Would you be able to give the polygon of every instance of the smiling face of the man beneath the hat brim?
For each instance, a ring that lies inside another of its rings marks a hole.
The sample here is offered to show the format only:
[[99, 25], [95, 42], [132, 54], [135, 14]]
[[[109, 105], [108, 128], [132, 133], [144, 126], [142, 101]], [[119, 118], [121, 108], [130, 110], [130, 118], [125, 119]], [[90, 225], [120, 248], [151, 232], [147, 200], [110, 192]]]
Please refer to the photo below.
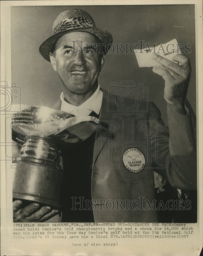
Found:
[[96, 90], [104, 56], [98, 51], [93, 53], [90, 45], [100, 43], [96, 36], [86, 32], [71, 32], [57, 40], [50, 60], [66, 93], [85, 95]]

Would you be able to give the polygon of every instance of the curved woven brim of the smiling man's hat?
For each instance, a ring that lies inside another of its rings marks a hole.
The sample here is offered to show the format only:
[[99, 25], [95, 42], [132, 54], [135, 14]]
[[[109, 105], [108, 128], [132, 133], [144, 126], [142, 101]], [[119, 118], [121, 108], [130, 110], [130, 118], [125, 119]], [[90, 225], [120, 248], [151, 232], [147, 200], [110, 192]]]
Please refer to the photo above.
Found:
[[[52, 51], [52, 48], [53, 48], [56, 40], [58, 40], [59, 37], [65, 35], [67, 33], [77, 32], [77, 31], [88, 32], [88, 33], [95, 35], [96, 37], [99, 38], [99, 40], [101, 41], [101, 44], [107, 45], [107, 44], [112, 44], [112, 42], [113, 42], [112, 35], [108, 31], [106, 31], [102, 28], [97, 28], [97, 27], [74, 28], [74, 29], [61, 31], [61, 32], [54, 34], [54, 35], [50, 36], [49, 38], [47, 38], [39, 47], [39, 52], [40, 52], [41, 56], [50, 62], [49, 53]], [[111, 45], [109, 45], [109, 47], [110, 46]], [[105, 52], [105, 54], [106, 54], [106, 52]]]

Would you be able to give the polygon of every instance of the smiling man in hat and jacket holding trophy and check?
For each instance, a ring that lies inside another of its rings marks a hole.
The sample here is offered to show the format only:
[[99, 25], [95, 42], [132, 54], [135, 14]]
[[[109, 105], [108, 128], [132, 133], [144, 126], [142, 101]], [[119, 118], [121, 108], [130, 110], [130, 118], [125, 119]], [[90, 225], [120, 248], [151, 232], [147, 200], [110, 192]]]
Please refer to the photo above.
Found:
[[[193, 113], [188, 110], [190, 107], [185, 106], [191, 72], [189, 60], [176, 55], [177, 65], [154, 54], [154, 60], [163, 65], [154, 67], [153, 72], [165, 80], [164, 98], [169, 120], [169, 132], [167, 128], [159, 132], [154, 124], [163, 122], [153, 103], [149, 104], [148, 111], [142, 111], [144, 106], [139, 102], [138, 114], [123, 115], [122, 111], [116, 112], [117, 98], [98, 85], [107, 45], [111, 43], [111, 34], [96, 28], [88, 13], [72, 9], [56, 18], [52, 36], [40, 46], [41, 55], [51, 62], [62, 82], [60, 101], [52, 107], [74, 115], [95, 115], [101, 122], [115, 125], [114, 128], [109, 126], [111, 146], [109, 133], [99, 137], [100, 130], [95, 129], [87, 141], [76, 145], [71, 152], [62, 148], [65, 178], [61, 221], [157, 222], [156, 211], [147, 207], [154, 199], [153, 169], [166, 176], [174, 187], [196, 187], [196, 174], [191, 171], [196, 170], [195, 124]], [[101, 44], [106, 46], [103, 54]], [[127, 104], [131, 106], [132, 101]], [[146, 132], [151, 134], [145, 145], [146, 133], [139, 128], [143, 122], [147, 123]], [[158, 141], [154, 135], [158, 136]], [[149, 152], [158, 160], [147, 160]], [[104, 155], [110, 156], [110, 161], [100, 161]], [[66, 169], [70, 161], [71, 168]], [[80, 213], [71, 210], [81, 206], [83, 195], [86, 202], [94, 201], [94, 207], [87, 207]], [[37, 203], [23, 208], [20, 200], [14, 201], [13, 208], [14, 221], [46, 221], [59, 212]]]

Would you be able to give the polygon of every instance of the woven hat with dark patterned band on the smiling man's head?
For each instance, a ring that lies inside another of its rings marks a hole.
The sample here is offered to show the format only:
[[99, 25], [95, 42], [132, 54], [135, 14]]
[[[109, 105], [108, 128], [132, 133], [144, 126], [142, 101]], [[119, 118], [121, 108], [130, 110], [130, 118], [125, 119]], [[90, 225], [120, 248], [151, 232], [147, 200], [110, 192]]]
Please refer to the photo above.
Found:
[[104, 45], [109, 45], [113, 42], [112, 35], [102, 28], [97, 28], [89, 13], [80, 9], [70, 9], [60, 13], [55, 19], [52, 27], [52, 36], [48, 37], [39, 47], [41, 56], [50, 61], [49, 53], [52, 51], [54, 43], [61, 36], [77, 31], [93, 34]]

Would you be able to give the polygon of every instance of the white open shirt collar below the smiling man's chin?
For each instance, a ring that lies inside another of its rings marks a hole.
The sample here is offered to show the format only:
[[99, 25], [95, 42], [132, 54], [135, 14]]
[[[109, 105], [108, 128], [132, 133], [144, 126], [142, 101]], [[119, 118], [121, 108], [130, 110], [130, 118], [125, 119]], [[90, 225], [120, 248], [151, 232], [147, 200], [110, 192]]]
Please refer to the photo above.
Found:
[[92, 96], [83, 102], [80, 106], [74, 106], [64, 100], [64, 94], [61, 93], [61, 110], [73, 115], [89, 115], [94, 111], [99, 115], [101, 104], [102, 104], [103, 92], [100, 90], [98, 84], [97, 90], [92, 94]]

